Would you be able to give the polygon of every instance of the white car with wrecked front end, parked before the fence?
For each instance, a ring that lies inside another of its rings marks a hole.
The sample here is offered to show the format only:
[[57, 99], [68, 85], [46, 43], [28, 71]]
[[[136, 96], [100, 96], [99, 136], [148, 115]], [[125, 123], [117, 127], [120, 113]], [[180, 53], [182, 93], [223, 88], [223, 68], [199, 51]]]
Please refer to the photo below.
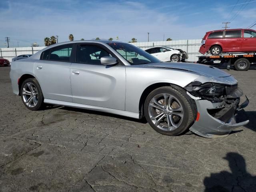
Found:
[[184, 62], [188, 58], [188, 54], [185, 51], [168, 46], [156, 46], [145, 51], [162, 62]]

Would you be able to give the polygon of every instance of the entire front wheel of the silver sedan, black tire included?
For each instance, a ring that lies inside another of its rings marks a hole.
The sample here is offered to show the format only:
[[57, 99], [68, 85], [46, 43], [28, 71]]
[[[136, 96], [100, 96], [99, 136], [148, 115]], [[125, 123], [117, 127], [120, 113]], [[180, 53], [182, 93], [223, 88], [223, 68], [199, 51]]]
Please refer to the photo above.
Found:
[[170, 86], [153, 90], [146, 98], [144, 112], [150, 126], [166, 135], [182, 134], [194, 121], [190, 102]]

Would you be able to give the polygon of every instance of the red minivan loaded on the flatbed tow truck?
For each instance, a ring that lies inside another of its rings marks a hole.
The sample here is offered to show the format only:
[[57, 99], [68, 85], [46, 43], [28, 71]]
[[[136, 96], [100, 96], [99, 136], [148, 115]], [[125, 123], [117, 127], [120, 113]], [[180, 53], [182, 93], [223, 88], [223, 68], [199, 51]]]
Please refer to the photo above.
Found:
[[199, 52], [212, 55], [225, 52], [256, 52], [256, 31], [252, 29], [227, 29], [206, 32]]

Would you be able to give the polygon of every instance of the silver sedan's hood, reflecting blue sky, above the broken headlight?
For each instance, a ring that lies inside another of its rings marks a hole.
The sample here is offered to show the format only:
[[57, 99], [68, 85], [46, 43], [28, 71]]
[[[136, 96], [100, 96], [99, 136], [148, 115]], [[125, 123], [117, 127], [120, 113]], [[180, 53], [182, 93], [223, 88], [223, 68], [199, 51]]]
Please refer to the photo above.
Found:
[[195, 63], [153, 63], [146, 64], [146, 67], [155, 67], [155, 68], [167, 68], [167, 69], [176, 69], [176, 70], [185, 70], [194, 72], [208, 78], [223, 78], [231, 76], [230, 74], [220, 70], [218, 68], [207, 66], [203, 64], [195, 64]]

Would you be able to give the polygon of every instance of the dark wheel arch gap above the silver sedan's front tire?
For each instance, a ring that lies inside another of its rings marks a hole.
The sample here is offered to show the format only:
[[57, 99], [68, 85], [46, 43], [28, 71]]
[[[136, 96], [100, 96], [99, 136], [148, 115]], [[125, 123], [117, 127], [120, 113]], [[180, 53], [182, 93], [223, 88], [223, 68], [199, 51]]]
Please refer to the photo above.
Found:
[[181, 86], [178, 86], [176, 84], [166, 83], [166, 82], [158, 82], [155, 84], [151, 84], [142, 92], [142, 95], [140, 96], [140, 102], [139, 102], [139, 118], [144, 118], [144, 103], [145, 103], [145, 100], [146, 100], [148, 94], [150, 94], [150, 92], [152, 92], [156, 88], [160, 88], [160, 87], [164, 87], [164, 86], [170, 86], [172, 88], [179, 90], [180, 92], [182, 92], [184, 94], [186, 99], [188, 99], [188, 101], [190, 102], [192, 110], [194, 110], [194, 120], [196, 120], [196, 114], [197, 114], [196, 102], [192, 98], [190, 98], [190, 96], [188, 96], [188, 94], [186, 94], [186, 90], [184, 88], [182, 88]]

